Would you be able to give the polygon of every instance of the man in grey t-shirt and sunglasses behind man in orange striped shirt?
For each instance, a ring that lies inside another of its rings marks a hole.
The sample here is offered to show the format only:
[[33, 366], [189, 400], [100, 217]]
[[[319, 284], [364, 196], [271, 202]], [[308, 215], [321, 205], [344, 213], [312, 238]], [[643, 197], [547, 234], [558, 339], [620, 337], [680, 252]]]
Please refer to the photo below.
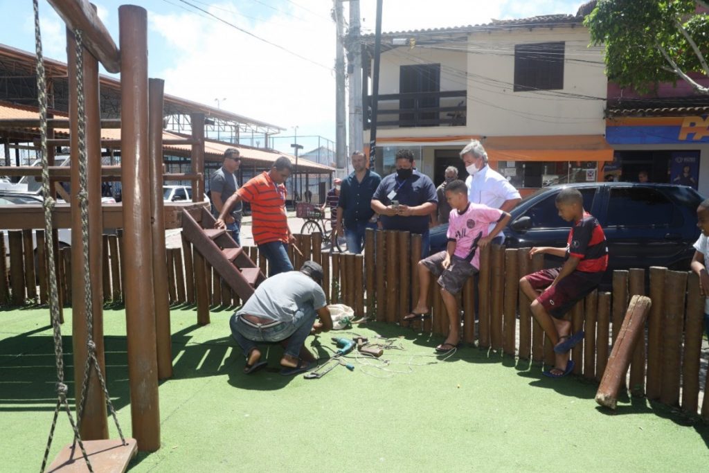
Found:
[[[241, 156], [239, 150], [236, 148], [228, 148], [228, 150], [224, 152], [224, 162], [222, 167], [217, 169], [209, 180], [209, 191], [212, 198], [212, 203], [216, 208], [216, 216], [218, 216], [221, 212], [224, 202], [232, 196], [237, 189], [239, 189], [239, 183], [236, 180], [235, 174], [239, 170], [240, 165]], [[243, 204], [239, 201], [224, 222], [226, 223], [226, 229], [231, 232], [234, 241], [239, 246], [241, 246], [240, 232], [242, 208]]]

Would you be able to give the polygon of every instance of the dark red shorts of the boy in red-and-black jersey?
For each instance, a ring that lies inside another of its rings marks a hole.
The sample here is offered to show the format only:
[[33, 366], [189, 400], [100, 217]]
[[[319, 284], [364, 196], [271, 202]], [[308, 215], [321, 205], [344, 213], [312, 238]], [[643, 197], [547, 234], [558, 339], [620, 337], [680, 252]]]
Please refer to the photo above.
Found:
[[603, 277], [603, 271], [574, 271], [559, 281], [556, 286], [549, 287], [549, 284], [552, 284], [554, 279], [557, 279], [561, 270], [562, 268], [560, 267], [542, 269], [525, 276], [532, 289], [543, 291], [537, 297], [537, 301], [555, 318], [562, 318], [566, 312], [574, 307], [576, 302], [584, 299], [593, 289], [596, 289]]

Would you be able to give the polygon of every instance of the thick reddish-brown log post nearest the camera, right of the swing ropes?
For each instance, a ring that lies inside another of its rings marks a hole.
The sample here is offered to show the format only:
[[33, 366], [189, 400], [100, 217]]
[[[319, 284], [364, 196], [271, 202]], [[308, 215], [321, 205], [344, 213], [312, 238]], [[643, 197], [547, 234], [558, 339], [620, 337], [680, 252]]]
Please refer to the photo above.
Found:
[[[146, 284], [154, 280], [150, 228], [150, 162], [147, 162], [147, 13], [138, 6], [123, 5], [118, 8], [118, 19], [123, 123], [123, 208], [130, 209], [130, 212], [123, 212], [125, 247], [130, 248], [130, 252], [123, 253], [126, 273], [125, 318], [128, 325], [130, 413], [133, 421], [132, 434], [135, 440], [138, 440], [138, 449], [154, 451], [160, 448], [160, 401], [157, 394], [155, 296], [152, 284]], [[193, 120], [193, 133], [195, 128]], [[194, 163], [193, 166], [195, 172], [201, 172]], [[98, 183], [101, 184], [100, 178]], [[194, 192], [194, 196], [202, 199], [199, 191]], [[203, 275], [202, 273], [202, 281]]]

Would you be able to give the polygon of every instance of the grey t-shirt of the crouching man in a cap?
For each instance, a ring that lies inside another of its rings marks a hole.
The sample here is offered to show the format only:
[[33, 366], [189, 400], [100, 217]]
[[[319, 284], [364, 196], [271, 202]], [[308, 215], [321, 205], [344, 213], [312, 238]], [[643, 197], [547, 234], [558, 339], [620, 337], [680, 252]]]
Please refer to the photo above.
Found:
[[323, 288], [300, 271], [281, 272], [262, 282], [236, 313], [291, 322], [298, 310], [328, 305]]

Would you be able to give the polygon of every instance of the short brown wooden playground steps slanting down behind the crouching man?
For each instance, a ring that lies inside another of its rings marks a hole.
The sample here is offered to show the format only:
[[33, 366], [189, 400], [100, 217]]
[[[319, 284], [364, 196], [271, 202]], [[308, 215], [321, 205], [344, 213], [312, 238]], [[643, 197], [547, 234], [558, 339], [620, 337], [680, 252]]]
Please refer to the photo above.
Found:
[[182, 233], [194, 249], [216, 270], [224, 282], [247, 301], [266, 277], [227, 230], [214, 228], [216, 220], [202, 209], [201, 225], [187, 211], [182, 211]]

